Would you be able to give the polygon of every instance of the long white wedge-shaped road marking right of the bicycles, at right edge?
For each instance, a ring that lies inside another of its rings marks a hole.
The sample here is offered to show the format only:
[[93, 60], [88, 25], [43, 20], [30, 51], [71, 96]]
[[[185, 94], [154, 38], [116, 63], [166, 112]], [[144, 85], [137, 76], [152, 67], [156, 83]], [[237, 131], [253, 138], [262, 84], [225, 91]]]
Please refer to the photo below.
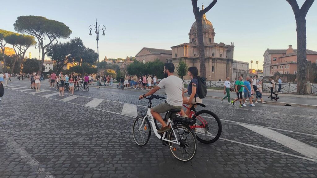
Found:
[[261, 134], [264, 137], [267, 137], [271, 140], [274, 140], [277, 143], [280, 143], [284, 146], [287, 146], [290, 149], [293, 149], [294, 151], [297, 151], [301, 153], [302, 155], [305, 155], [307, 157], [317, 159], [317, 148], [310, 146], [306, 143], [302, 143], [298, 140], [295, 140], [294, 138], [288, 137], [286, 135], [283, 135], [281, 133], [278, 133], [274, 130], [248, 125], [248, 124], [239, 124], [249, 130], [252, 130], [258, 134]]

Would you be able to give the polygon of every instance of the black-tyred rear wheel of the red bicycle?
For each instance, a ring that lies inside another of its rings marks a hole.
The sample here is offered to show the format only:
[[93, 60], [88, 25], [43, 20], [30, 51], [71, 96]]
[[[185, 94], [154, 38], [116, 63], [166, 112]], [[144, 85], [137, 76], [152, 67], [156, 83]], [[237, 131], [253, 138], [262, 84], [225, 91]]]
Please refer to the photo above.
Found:
[[[197, 140], [201, 143], [214, 143], [216, 142], [222, 132], [222, 125], [218, 116], [207, 110], [198, 111], [194, 114], [193, 119], [196, 119], [197, 126], [194, 130]], [[202, 126], [203, 123], [205, 127]]]

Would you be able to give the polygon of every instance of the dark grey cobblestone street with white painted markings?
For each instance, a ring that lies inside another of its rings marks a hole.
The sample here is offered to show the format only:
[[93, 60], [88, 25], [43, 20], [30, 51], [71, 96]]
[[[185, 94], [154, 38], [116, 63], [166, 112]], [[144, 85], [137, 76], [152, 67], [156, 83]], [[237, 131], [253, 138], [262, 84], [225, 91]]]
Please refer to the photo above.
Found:
[[13, 79], [0, 103], [0, 178], [317, 176], [316, 109], [239, 108], [206, 98], [203, 109], [221, 119], [222, 135], [198, 142], [196, 156], [181, 162], [154, 134], [144, 147], [134, 142], [135, 117], [122, 108], [144, 110], [138, 97], [145, 91], [91, 86], [68, 98], [46, 80], [41, 92], [29, 86]]

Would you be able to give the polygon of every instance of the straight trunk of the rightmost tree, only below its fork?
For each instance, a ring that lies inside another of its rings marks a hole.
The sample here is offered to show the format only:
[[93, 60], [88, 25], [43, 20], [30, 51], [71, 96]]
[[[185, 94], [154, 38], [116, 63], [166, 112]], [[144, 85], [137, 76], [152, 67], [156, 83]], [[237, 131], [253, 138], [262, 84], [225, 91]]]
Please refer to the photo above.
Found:
[[306, 74], [306, 20], [305, 17], [296, 18], [297, 32], [297, 94], [307, 94]]

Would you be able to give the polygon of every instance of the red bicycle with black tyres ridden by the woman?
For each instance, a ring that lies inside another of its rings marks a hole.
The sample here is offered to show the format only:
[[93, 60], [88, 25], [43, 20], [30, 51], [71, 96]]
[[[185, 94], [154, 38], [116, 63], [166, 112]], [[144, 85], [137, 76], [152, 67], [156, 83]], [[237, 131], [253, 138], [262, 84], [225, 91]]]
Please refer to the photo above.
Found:
[[[194, 104], [191, 108], [185, 105], [183, 106], [186, 109], [191, 110], [188, 118], [196, 119], [196, 124], [191, 125], [190, 128], [195, 131], [197, 140], [205, 144], [216, 142], [219, 139], [222, 132], [222, 125], [218, 116], [215, 113], [208, 110], [201, 110], [197, 112], [196, 106], [206, 107], [206, 105], [201, 103]], [[166, 121], [166, 118], [169, 117], [170, 116], [168, 116], [166, 113], [165, 118], [163, 120]], [[178, 116], [175, 117], [182, 116], [180, 116], [180, 113], [178, 113]], [[158, 125], [159, 123], [156, 122], [156, 119], [154, 119], [154, 124], [157, 129], [161, 127], [160, 125]]]

